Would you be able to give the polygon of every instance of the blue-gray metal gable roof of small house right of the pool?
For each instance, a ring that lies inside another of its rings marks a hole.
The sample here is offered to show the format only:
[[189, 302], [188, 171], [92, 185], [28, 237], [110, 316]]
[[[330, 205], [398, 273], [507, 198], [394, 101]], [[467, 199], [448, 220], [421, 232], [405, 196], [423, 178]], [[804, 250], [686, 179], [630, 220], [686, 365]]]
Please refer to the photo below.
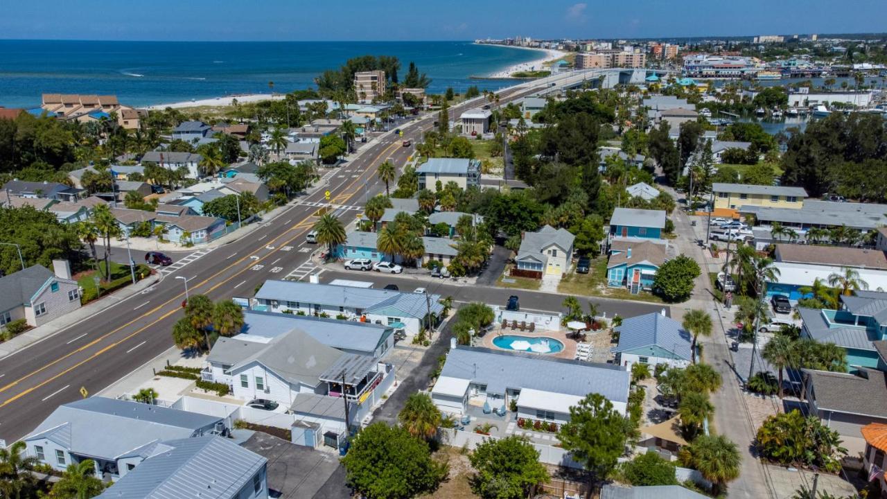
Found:
[[680, 322], [663, 316], [661, 313], [647, 313], [624, 319], [619, 331], [619, 345], [613, 352], [627, 352], [636, 348], [658, 346], [682, 359], [690, 360], [692, 337]]

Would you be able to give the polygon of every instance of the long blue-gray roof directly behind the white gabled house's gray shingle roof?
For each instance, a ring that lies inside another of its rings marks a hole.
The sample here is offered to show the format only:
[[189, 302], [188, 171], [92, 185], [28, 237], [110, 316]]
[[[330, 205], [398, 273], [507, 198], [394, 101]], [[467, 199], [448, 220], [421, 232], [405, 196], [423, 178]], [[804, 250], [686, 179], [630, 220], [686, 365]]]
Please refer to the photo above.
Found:
[[293, 329], [301, 329], [326, 346], [369, 354], [373, 354], [394, 331], [388, 326], [368, 322], [247, 310], [243, 313], [243, 328], [240, 332], [261, 337], [277, 337]]

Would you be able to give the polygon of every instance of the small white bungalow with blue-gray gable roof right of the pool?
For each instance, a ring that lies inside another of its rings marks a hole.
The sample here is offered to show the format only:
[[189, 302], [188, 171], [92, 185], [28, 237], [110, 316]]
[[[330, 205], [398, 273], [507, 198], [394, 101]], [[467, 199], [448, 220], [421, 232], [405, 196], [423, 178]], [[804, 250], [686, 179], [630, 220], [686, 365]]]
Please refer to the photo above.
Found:
[[680, 322], [662, 313], [624, 319], [614, 330], [619, 335], [619, 344], [611, 352], [616, 353], [616, 364], [627, 370], [636, 363], [686, 368], [693, 360], [690, 333]]

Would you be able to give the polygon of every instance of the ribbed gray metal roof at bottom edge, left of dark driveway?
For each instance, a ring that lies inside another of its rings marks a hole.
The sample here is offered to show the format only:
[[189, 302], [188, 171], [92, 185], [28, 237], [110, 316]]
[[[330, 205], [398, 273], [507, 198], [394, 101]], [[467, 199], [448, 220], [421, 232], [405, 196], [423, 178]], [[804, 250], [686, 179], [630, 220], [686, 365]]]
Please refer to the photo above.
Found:
[[215, 435], [168, 440], [108, 488], [99, 499], [230, 499], [253, 487], [268, 460]]

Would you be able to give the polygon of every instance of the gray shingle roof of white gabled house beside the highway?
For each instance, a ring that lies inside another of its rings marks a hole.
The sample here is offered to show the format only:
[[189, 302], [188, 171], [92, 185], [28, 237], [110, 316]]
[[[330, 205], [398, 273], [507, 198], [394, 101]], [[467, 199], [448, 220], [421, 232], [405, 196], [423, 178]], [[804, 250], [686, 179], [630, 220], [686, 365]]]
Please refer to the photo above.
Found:
[[266, 344], [238, 337], [220, 337], [207, 360], [230, 364], [232, 372], [256, 361], [291, 384], [317, 386], [321, 373], [342, 355], [342, 352], [320, 343], [302, 329], [292, 329], [271, 338]]

